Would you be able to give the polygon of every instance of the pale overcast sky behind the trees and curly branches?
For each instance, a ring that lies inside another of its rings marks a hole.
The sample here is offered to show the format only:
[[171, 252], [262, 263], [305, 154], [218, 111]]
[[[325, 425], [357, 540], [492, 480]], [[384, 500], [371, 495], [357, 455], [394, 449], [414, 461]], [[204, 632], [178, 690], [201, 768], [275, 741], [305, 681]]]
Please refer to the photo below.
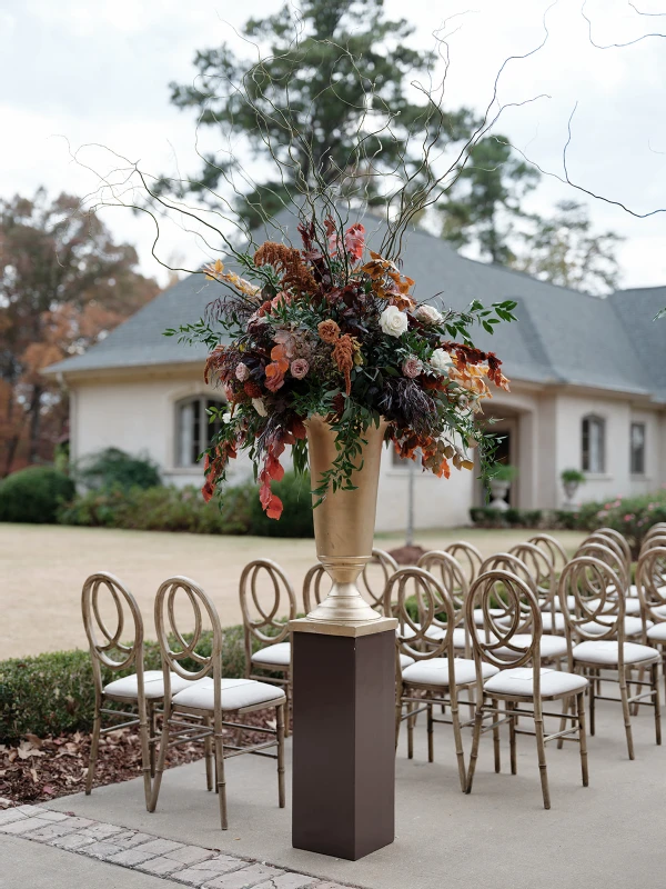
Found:
[[[276, 10], [279, 0], [3, 0], [0, 7], [0, 194], [30, 194], [40, 184], [57, 193], [83, 194], [98, 181], [70, 157], [100, 143], [141, 159], [154, 172], [195, 172], [194, 117], [169, 102], [168, 83], [194, 76], [196, 49], [229, 41], [249, 16]], [[447, 17], [451, 68], [447, 106], [485, 109], [497, 70], [508, 56], [534, 49], [544, 37], [542, 0], [386, 0], [392, 18], [416, 27], [415, 46], [431, 48], [432, 32]], [[599, 44], [624, 43], [650, 31], [666, 33], [666, 0], [589, 0], [586, 14]], [[582, 0], [559, 0], [547, 13], [545, 47], [509, 62], [500, 80], [503, 103], [542, 98], [507, 109], [497, 131], [544, 170], [562, 174], [567, 120], [577, 102], [568, 150], [572, 179], [636, 213], [666, 207], [666, 40], [649, 38], [625, 48], [589, 43]], [[456, 30], [457, 29], [457, 30]], [[67, 141], [65, 141], [67, 140]], [[84, 151], [100, 169], [99, 154]], [[93, 158], [97, 158], [94, 161]], [[635, 219], [586, 199], [546, 178], [531, 206], [546, 212], [565, 198], [585, 199], [599, 229], [626, 238], [619, 250], [622, 284], [666, 283], [666, 213]], [[103, 218], [118, 238], [139, 247], [142, 268], [164, 280], [150, 256], [152, 229], [129, 211]], [[196, 240], [168, 232], [164, 259], [202, 259]], [[417, 270], [411, 270], [415, 273]]]

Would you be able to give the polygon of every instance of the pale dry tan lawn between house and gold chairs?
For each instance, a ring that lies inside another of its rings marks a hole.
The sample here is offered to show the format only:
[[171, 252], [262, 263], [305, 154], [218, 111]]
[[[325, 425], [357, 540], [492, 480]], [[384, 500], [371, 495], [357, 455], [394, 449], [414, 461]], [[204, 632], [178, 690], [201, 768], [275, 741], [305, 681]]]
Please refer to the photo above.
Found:
[[[465, 539], [490, 556], [532, 533], [448, 528], [418, 531], [416, 542], [437, 549]], [[556, 536], [569, 552], [584, 537], [576, 531]], [[404, 543], [404, 537], [377, 535], [375, 542], [382, 549], [391, 549]], [[240, 623], [239, 577], [243, 566], [259, 557], [282, 566], [302, 608], [301, 586], [315, 562], [314, 540], [0, 523], [0, 659], [87, 647], [81, 586], [99, 570], [111, 571], [132, 590], [148, 638], [154, 637], [155, 591], [173, 575], [185, 575], [201, 583], [215, 602], [224, 626]]]

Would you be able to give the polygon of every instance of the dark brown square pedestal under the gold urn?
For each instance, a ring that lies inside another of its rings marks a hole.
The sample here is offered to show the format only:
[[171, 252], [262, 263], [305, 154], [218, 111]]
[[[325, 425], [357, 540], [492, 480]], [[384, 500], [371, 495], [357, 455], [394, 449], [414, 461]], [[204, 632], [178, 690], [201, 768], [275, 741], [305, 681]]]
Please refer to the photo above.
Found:
[[292, 669], [293, 846], [355, 861], [395, 836], [395, 631], [294, 632]]

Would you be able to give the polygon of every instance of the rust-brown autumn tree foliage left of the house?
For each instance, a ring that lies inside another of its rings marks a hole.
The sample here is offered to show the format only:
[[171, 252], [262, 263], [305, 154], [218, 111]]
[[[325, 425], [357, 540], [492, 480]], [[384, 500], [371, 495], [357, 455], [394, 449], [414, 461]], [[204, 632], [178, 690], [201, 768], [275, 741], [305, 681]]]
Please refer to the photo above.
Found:
[[62, 387], [41, 371], [82, 352], [158, 292], [79, 199], [0, 202], [0, 475], [48, 460], [67, 433]]

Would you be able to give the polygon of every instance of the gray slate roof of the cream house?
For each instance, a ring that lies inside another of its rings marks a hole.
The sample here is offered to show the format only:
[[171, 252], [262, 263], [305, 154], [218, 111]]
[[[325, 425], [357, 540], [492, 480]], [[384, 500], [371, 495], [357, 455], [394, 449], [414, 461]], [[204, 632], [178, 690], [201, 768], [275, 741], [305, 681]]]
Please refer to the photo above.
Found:
[[[294, 217], [285, 213], [279, 220], [292, 242], [299, 243]], [[373, 217], [364, 221], [369, 230], [374, 228], [370, 240], [376, 242], [383, 223]], [[420, 301], [454, 309], [464, 309], [473, 299], [486, 304], [517, 301], [518, 322], [498, 324], [493, 337], [483, 330], [475, 333], [481, 348], [497, 352], [509, 378], [650, 393], [666, 401], [666, 319], [652, 320], [666, 306], [666, 287], [617, 291], [598, 299], [465, 259], [445, 241], [422, 231], [408, 234], [403, 263], [405, 273], [416, 279], [414, 296]], [[52, 364], [48, 372], [202, 362], [201, 347], [178, 343], [163, 331], [199, 319], [219, 293], [214, 281], [192, 274], [84, 354]], [[440, 296], [433, 299], [434, 294]]]

